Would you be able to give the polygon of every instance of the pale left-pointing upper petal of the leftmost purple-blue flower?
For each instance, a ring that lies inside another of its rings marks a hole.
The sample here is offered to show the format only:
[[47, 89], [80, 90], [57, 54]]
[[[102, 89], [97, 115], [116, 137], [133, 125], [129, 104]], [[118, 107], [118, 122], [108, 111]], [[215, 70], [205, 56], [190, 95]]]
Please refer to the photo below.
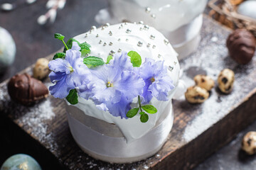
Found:
[[53, 72], [65, 72], [65, 74], [70, 74], [70, 63], [67, 60], [56, 59], [49, 62], [49, 69]]

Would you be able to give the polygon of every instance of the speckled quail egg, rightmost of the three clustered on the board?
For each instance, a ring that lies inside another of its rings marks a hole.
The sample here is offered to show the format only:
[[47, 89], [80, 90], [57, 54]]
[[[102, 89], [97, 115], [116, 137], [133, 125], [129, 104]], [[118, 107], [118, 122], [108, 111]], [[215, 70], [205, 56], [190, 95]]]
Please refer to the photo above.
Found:
[[235, 74], [231, 69], [223, 69], [218, 75], [218, 88], [224, 94], [229, 94], [233, 90]]

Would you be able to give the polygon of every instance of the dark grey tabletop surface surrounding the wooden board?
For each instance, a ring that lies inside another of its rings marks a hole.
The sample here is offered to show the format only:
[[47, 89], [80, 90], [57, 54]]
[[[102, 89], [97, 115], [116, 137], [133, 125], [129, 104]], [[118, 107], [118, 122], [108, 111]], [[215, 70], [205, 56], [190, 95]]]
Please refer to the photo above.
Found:
[[[19, 0], [22, 1], [22, 0]], [[6, 1], [0, 0], [0, 4]], [[0, 82], [12, 77], [40, 57], [46, 57], [63, 47], [59, 40], [53, 38], [54, 33], [65, 35], [65, 40], [85, 33], [91, 26], [99, 26], [95, 15], [107, 6], [105, 0], [68, 0], [65, 8], [58, 11], [55, 23], [39, 26], [37, 18], [46, 13], [46, 0], [38, 0], [30, 6], [23, 5], [14, 11], [0, 11], [0, 26], [9, 30], [16, 42], [16, 60], [4, 74]], [[12, 154], [26, 153], [35, 157], [43, 169], [63, 169], [49, 152], [39, 152], [41, 145], [27, 138], [11, 120], [0, 117], [0, 166]], [[255, 130], [256, 123], [243, 131], [229, 145], [220, 149], [196, 170], [204, 169], [256, 169], [255, 157], [247, 157], [240, 152], [242, 135], [248, 130]], [[26, 140], [24, 140], [26, 139]], [[203, 147], [202, 147], [203, 149]]]

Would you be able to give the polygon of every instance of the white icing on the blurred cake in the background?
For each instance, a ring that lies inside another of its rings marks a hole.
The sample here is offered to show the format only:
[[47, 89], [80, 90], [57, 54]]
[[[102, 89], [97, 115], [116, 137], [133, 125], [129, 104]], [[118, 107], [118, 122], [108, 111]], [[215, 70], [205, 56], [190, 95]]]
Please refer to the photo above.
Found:
[[[173, 31], [190, 23], [206, 7], [207, 0], [110, 0], [110, 13], [119, 21], [144, 21], [157, 30]], [[146, 8], [150, 8], [146, 12]]]

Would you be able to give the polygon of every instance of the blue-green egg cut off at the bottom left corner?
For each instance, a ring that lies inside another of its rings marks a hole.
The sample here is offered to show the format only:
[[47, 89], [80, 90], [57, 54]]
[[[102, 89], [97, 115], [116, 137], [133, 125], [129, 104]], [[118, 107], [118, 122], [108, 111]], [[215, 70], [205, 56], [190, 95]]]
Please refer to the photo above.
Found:
[[27, 154], [14, 154], [6, 159], [0, 170], [41, 170], [41, 166]]

